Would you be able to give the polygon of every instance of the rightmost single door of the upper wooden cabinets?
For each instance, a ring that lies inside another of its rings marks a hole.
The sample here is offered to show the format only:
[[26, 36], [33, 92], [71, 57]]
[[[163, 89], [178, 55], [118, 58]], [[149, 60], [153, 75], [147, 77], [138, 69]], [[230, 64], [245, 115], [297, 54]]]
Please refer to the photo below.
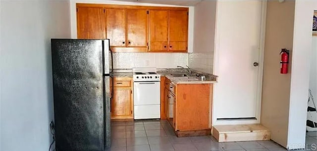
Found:
[[187, 51], [188, 13], [169, 11], [169, 51]]

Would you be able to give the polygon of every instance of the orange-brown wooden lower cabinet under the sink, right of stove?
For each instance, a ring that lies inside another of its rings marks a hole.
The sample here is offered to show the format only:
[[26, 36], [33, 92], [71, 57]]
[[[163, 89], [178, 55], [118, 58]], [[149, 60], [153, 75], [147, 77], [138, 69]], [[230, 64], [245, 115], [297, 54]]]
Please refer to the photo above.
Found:
[[178, 137], [211, 135], [212, 84], [165, 79], [165, 114]]

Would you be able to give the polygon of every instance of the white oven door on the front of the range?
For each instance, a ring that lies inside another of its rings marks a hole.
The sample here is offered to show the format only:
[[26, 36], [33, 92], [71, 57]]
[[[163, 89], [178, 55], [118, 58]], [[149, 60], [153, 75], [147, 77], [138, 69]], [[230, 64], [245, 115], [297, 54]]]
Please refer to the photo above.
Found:
[[134, 106], [160, 104], [159, 81], [134, 82]]

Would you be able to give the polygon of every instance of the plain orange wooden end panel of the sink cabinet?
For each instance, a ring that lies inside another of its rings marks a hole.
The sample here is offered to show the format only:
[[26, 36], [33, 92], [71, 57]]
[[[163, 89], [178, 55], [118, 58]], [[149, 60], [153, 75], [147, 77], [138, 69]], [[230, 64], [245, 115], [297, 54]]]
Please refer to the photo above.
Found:
[[210, 90], [210, 84], [177, 84], [176, 130], [210, 129]]

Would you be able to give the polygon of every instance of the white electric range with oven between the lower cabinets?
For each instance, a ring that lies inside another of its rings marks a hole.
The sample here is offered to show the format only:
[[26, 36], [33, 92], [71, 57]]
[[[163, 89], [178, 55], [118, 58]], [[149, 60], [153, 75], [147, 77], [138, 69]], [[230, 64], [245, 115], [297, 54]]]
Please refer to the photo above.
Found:
[[160, 118], [160, 75], [157, 68], [132, 68], [134, 119]]

